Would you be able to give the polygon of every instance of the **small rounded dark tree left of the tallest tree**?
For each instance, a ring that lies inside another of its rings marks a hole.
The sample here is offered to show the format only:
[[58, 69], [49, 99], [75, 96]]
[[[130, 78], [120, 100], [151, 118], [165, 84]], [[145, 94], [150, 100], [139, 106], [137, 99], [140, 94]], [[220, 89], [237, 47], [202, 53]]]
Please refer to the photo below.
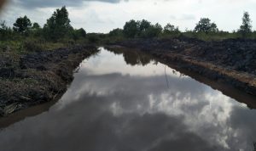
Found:
[[24, 34], [24, 33], [28, 33], [31, 26], [32, 26], [31, 21], [25, 15], [24, 17], [20, 17], [16, 20], [13, 29], [14, 31]]

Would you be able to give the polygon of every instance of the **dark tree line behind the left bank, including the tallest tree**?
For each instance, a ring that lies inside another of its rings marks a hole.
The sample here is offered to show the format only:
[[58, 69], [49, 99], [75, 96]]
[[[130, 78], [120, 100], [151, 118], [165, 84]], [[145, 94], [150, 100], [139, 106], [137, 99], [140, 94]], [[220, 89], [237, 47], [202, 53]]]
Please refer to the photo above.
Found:
[[5, 21], [0, 22], [0, 40], [9, 40], [17, 36], [42, 37], [48, 41], [58, 41], [62, 38], [78, 40], [86, 36], [83, 28], [74, 29], [70, 25], [67, 8], [57, 8], [43, 27], [38, 23], [32, 23], [25, 15], [19, 17], [13, 24], [13, 28], [6, 25]]

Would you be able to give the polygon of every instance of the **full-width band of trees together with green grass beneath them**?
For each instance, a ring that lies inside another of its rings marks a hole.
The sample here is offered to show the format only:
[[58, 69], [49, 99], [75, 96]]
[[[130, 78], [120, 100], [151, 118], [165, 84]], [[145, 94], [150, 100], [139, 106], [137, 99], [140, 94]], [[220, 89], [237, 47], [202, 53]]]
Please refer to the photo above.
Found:
[[113, 29], [108, 34], [89, 33], [83, 28], [73, 29], [70, 25], [66, 7], [58, 8], [47, 20], [44, 27], [38, 23], [31, 23], [26, 17], [20, 17], [10, 28], [5, 21], [0, 21], [0, 42], [12, 45], [11, 50], [18, 53], [43, 51], [60, 47], [69, 47], [77, 43], [114, 43], [124, 41], [126, 38], [172, 38], [189, 36], [204, 41], [218, 41], [228, 38], [247, 37], [256, 39], [256, 31], [252, 31], [252, 21], [245, 12], [242, 25], [233, 33], [218, 31], [217, 25], [211, 20], [202, 18], [195, 26], [194, 31], [179, 31], [177, 26], [167, 24], [164, 29], [160, 24], [151, 24], [148, 20], [130, 20], [123, 29]]

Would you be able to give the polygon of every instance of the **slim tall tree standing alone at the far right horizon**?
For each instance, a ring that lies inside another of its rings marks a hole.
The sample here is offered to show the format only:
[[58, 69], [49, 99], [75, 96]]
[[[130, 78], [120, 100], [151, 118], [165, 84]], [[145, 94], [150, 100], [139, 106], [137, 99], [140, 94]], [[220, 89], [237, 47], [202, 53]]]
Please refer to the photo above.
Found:
[[242, 36], [246, 36], [248, 33], [252, 32], [252, 20], [250, 19], [250, 15], [248, 12], [244, 12], [242, 17], [242, 24], [239, 30]]

